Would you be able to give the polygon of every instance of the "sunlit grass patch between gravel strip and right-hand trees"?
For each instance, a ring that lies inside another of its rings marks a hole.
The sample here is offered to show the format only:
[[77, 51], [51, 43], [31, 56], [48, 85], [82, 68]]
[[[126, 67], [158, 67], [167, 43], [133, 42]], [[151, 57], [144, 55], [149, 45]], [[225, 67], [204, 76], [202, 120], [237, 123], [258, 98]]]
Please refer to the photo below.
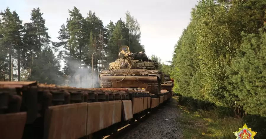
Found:
[[[173, 99], [178, 101], [177, 96]], [[221, 116], [217, 109], [193, 111], [181, 105], [178, 108], [180, 114], [176, 122], [183, 129], [182, 139], [236, 139], [233, 132], [244, 125], [240, 117]]]

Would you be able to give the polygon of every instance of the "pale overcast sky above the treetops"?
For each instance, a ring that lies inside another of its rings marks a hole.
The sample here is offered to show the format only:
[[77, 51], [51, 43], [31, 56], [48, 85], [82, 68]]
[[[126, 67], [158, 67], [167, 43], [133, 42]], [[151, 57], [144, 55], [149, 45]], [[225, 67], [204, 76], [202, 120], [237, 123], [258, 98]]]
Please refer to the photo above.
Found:
[[[111, 2], [112, 1], [112, 2]], [[76, 6], [83, 16], [89, 10], [107, 25], [116, 22], [128, 10], [140, 23], [141, 43], [148, 56], [155, 54], [164, 61], [172, 60], [174, 45], [190, 20], [197, 0], [0, 0], [0, 9], [9, 7], [23, 22], [30, 22], [30, 12], [40, 7], [52, 41], [58, 41], [60, 26], [69, 17], [68, 9]]]

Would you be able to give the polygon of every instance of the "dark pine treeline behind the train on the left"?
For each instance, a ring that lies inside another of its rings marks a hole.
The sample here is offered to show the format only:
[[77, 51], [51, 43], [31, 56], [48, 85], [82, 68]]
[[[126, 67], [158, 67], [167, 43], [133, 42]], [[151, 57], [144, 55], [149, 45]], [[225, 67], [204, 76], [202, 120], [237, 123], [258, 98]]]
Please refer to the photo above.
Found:
[[92, 71], [92, 54], [95, 55], [94, 70], [98, 73], [118, 57], [121, 45], [129, 45], [133, 52], [145, 51], [140, 44], [140, 25], [129, 12], [125, 14], [126, 21], [120, 18], [115, 23], [110, 21], [107, 26], [95, 12], [88, 11], [87, 17], [83, 17], [76, 7], [68, 12], [69, 18], [58, 31], [59, 42], [51, 42], [39, 8], [32, 10], [31, 22], [24, 24], [18, 13], [9, 7], [1, 11], [0, 80], [38, 80], [56, 84], [68, 81], [69, 85], [73, 80], [82, 80], [82, 76], [77, 79], [77, 74], [89, 75], [85, 72]]

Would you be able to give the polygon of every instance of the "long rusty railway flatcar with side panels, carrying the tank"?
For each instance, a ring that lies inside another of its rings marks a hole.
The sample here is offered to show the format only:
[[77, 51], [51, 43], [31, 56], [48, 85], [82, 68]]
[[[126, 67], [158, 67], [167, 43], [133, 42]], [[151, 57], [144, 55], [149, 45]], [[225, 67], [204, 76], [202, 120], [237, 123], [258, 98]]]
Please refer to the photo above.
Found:
[[0, 82], [1, 139], [101, 139], [166, 103], [124, 88], [72, 88]]

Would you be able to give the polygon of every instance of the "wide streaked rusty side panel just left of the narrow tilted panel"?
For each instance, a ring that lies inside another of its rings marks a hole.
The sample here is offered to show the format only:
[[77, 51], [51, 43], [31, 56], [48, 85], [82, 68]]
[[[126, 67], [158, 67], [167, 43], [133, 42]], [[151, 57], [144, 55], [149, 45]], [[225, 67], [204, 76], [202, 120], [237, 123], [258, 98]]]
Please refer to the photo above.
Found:
[[87, 135], [121, 121], [122, 101], [88, 103]]

